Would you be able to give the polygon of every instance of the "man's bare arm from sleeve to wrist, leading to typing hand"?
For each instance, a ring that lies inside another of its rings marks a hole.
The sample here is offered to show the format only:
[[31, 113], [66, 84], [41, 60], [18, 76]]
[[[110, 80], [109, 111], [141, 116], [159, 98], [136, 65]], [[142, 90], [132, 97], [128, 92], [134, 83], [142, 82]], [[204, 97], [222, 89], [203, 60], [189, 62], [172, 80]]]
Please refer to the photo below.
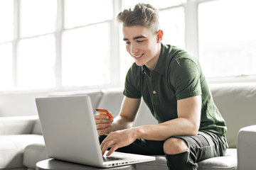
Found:
[[178, 118], [134, 128], [137, 136], [145, 140], [166, 140], [176, 135], [197, 135], [201, 120], [201, 95], [177, 101]]

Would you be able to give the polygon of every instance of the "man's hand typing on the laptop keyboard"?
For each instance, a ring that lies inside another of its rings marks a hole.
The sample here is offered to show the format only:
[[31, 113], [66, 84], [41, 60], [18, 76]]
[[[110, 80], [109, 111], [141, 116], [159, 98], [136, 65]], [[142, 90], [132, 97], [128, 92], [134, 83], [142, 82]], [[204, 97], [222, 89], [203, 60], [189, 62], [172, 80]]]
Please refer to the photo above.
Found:
[[102, 155], [105, 154], [108, 148], [111, 148], [107, 153], [107, 156], [110, 156], [116, 149], [119, 147], [125, 147], [127, 145], [132, 144], [137, 137], [134, 134], [134, 129], [126, 129], [126, 130], [117, 130], [115, 132], [110, 132], [109, 135], [103, 140], [100, 145], [100, 149], [102, 150]]

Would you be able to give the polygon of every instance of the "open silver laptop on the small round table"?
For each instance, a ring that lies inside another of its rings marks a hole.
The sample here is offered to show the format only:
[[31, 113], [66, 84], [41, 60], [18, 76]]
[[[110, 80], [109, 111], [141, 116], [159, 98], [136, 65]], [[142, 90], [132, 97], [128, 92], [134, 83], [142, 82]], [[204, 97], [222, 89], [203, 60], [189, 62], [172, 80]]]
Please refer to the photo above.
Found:
[[102, 157], [90, 96], [36, 98], [36, 106], [50, 158], [103, 168], [155, 160], [122, 152]]

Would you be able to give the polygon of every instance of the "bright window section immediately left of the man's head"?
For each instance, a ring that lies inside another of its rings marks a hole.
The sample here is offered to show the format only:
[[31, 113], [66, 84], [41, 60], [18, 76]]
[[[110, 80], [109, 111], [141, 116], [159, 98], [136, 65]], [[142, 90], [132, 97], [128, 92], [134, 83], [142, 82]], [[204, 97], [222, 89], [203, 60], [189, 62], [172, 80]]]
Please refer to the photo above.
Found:
[[64, 12], [62, 86], [111, 84], [112, 1], [66, 0]]

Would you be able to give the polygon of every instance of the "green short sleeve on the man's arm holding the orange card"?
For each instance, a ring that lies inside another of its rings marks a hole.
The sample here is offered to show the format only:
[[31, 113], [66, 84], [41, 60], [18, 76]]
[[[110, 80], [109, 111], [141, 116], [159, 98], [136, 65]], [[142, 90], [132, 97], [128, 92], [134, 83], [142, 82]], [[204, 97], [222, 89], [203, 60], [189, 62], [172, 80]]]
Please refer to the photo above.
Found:
[[139, 69], [134, 64], [127, 72], [124, 84], [124, 96], [129, 98], [141, 98], [142, 94], [139, 91]]

